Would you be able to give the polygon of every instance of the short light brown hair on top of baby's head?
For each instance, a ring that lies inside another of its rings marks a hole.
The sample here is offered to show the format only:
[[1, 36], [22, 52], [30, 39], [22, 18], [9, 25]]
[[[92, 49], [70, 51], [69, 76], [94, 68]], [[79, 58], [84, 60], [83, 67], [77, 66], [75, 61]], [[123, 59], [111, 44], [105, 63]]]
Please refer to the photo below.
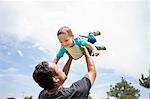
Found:
[[63, 26], [58, 30], [57, 36], [59, 36], [60, 34], [68, 34], [69, 36], [73, 35], [71, 29], [67, 26]]

